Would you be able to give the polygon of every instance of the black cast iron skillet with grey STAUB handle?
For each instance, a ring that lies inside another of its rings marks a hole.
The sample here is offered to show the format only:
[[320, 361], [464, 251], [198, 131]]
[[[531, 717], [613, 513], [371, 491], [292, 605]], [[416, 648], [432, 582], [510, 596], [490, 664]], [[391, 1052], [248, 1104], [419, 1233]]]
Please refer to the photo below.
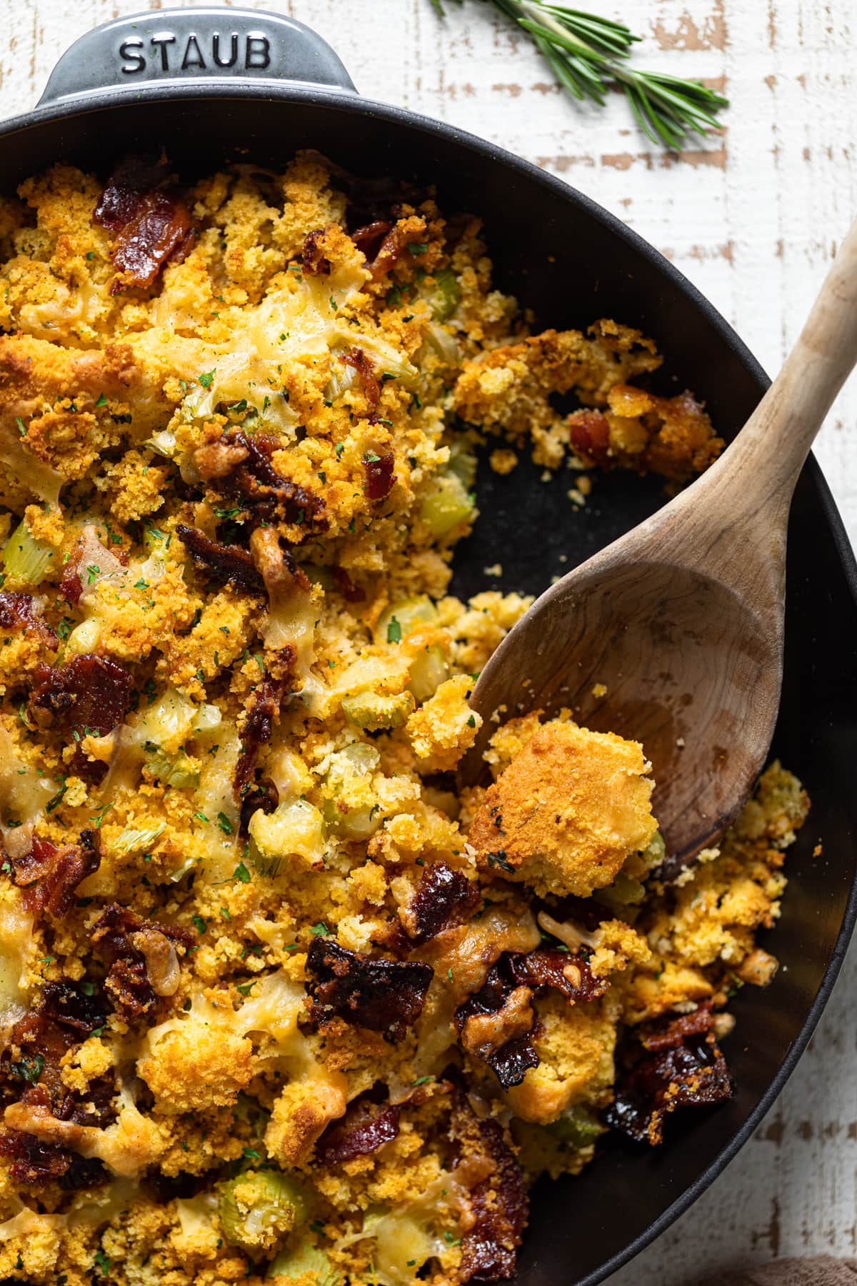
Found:
[[[231, 66], [217, 67], [215, 53]], [[200, 8], [91, 32], [60, 59], [36, 111], [0, 126], [0, 184], [10, 190], [59, 159], [104, 172], [127, 149], [161, 144], [185, 175], [230, 159], [283, 166], [311, 147], [357, 174], [436, 184], [447, 212], [484, 216], [500, 285], [542, 324], [613, 316], [641, 327], [667, 355], [663, 387], [693, 388], [726, 437], [766, 387], [711, 303], [612, 215], [490, 143], [357, 98], [333, 51], [287, 18]], [[522, 464], [501, 478], [481, 468], [482, 517], [459, 547], [457, 593], [495, 584], [538, 592], [663, 500], [657, 481], [615, 475], [599, 478], [590, 504], [574, 513], [565, 495], [570, 477], [546, 485], [538, 473]], [[502, 575], [487, 579], [483, 568], [497, 562]], [[582, 1177], [540, 1183], [518, 1282], [594, 1286], [628, 1260], [723, 1169], [804, 1049], [857, 908], [856, 652], [857, 567], [811, 460], [789, 534], [785, 688], [773, 750], [802, 777], [813, 808], [789, 853], [782, 919], [766, 943], [780, 972], [766, 992], [747, 988], [734, 1003], [738, 1028], [726, 1052], [738, 1096], [721, 1109], [685, 1112], [662, 1151], [608, 1139]]]

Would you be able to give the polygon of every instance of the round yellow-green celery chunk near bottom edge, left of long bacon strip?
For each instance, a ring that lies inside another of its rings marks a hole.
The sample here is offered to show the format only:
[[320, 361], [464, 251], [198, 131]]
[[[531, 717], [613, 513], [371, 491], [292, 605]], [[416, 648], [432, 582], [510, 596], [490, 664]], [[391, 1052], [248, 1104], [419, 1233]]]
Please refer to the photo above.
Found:
[[279, 1250], [303, 1223], [307, 1200], [294, 1179], [279, 1170], [247, 1170], [221, 1184], [217, 1214], [230, 1246], [256, 1259]]

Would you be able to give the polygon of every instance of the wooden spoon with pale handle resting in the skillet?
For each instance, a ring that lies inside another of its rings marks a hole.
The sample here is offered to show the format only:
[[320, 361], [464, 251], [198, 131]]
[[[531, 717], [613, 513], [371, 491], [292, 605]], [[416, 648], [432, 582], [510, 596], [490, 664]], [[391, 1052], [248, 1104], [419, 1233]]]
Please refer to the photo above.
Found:
[[493, 653], [470, 697], [484, 724], [463, 782], [481, 777], [499, 720], [565, 706], [588, 728], [642, 742], [664, 878], [717, 841], [771, 746], [791, 493], [856, 361], [857, 221], [782, 370], [727, 450], [551, 585]]

